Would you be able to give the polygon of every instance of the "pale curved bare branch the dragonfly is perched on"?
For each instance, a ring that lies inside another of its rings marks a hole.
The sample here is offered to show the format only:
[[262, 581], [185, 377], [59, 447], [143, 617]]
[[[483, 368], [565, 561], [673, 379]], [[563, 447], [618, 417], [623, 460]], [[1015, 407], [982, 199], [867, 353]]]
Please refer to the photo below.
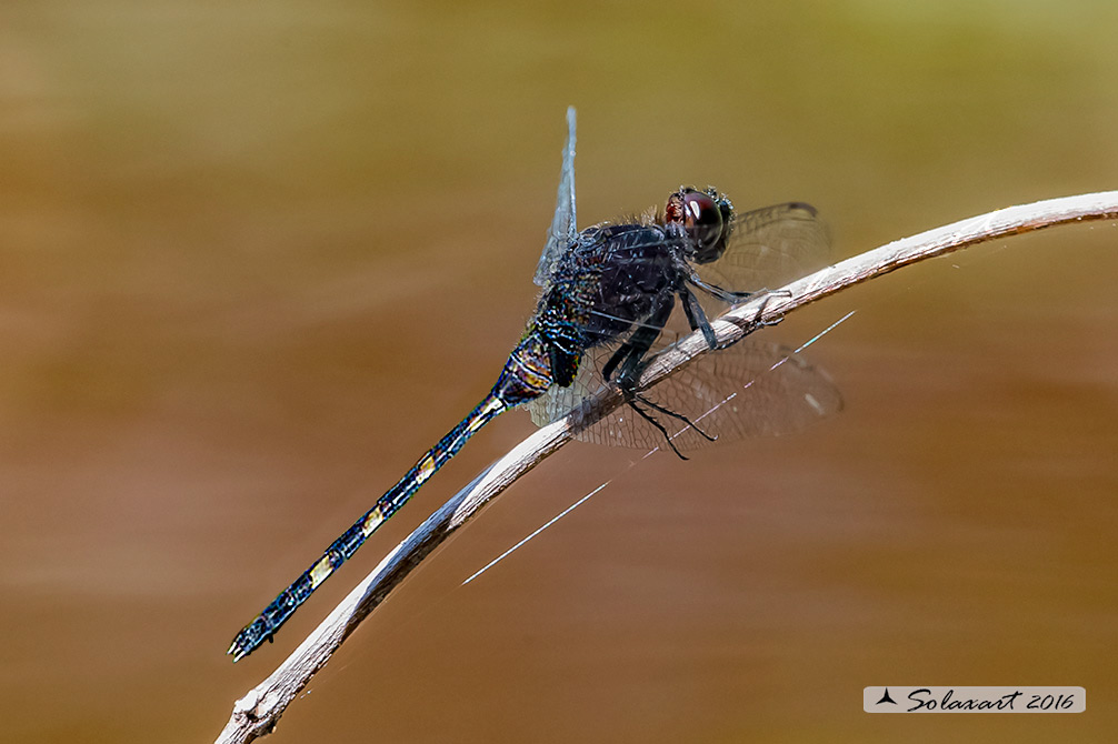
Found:
[[[840, 289], [926, 258], [1057, 225], [1108, 219], [1118, 219], [1118, 191], [1010, 207], [849, 258], [775, 293], [736, 306], [712, 321], [711, 326], [719, 343], [728, 345], [758, 327], [758, 323], [774, 322]], [[702, 334], [691, 334], [654, 360], [642, 375], [639, 387], [643, 389], [657, 383], [705, 353], [707, 349]], [[580, 412], [580, 426], [588, 426], [590, 421], [608, 414], [622, 402], [616, 391], [599, 395]], [[587, 410], [591, 411], [589, 418]], [[494, 496], [570, 440], [574, 426], [568, 418], [534, 432], [432, 514], [350, 592], [280, 668], [237, 700], [217, 742], [250, 742], [271, 733], [291, 700], [405, 576]]]

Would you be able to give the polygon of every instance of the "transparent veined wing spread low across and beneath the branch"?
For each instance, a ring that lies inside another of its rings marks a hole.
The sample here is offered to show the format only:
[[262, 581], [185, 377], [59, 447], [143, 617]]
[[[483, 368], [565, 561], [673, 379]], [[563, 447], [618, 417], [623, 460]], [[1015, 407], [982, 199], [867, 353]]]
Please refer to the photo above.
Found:
[[[610, 353], [610, 347], [593, 350], [574, 385], [533, 403], [532, 420], [542, 426], [581, 408], [587, 394], [604, 384], [598, 370]], [[691, 419], [718, 441], [790, 433], [842, 409], [842, 394], [823, 370], [790, 349], [752, 338], [703, 354], [643, 394]], [[680, 450], [711, 443], [678, 419], [654, 416]], [[576, 436], [618, 447], [665, 446], [664, 436], [627, 406]]]

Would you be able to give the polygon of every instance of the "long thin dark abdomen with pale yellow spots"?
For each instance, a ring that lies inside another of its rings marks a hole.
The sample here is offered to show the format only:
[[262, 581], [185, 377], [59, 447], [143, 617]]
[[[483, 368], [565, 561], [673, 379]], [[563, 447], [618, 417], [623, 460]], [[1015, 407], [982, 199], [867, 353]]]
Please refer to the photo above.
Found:
[[392, 516], [411, 497], [411, 494], [419, 490], [419, 486], [427, 478], [446, 465], [475, 431], [509, 408], [510, 404], [502, 400], [498, 389], [486, 395], [485, 400], [479, 403], [477, 408], [471, 411], [470, 416], [454, 427], [437, 445], [432, 447], [416, 462], [415, 467], [400, 478], [398, 484], [378, 498], [364, 516], [353, 523], [353, 526], [347, 530], [341, 537], [331, 543], [314, 565], [304, 571], [303, 575], [283, 590], [263, 612], [256, 616], [255, 620], [237, 633], [227, 651], [233, 656], [233, 660], [243, 659], [265, 640], [271, 640], [272, 635], [280, 629], [280, 626], [295, 612], [300, 604], [306, 601], [306, 598], [323, 581], [330, 578], [338, 566], [349, 560], [357, 552], [357, 549], [361, 547], [369, 535], [375, 533], [385, 519]]

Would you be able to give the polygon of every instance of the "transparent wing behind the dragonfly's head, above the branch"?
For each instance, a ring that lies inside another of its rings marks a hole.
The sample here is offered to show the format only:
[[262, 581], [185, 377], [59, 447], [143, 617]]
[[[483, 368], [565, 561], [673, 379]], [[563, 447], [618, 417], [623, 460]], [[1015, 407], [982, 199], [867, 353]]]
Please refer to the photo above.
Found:
[[815, 208], [788, 202], [735, 216], [729, 246], [699, 276], [723, 289], [777, 289], [831, 263], [831, 236]]

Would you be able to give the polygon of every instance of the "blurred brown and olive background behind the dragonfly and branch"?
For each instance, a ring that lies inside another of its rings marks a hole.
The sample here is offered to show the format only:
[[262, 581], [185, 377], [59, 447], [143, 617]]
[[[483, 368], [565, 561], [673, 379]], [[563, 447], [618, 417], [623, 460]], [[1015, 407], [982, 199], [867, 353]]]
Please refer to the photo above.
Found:
[[[241, 624], [485, 393], [563, 111], [589, 225], [714, 183], [839, 256], [1118, 187], [1093, 2], [6, 2], [0, 738], [211, 741], [531, 430], [479, 435], [288, 623]], [[846, 410], [690, 462], [575, 443], [445, 546], [275, 742], [1105, 741], [1118, 227], [904, 269], [766, 332]], [[614, 483], [466, 588], [494, 555]], [[881, 684], [1081, 715], [871, 716]]]

